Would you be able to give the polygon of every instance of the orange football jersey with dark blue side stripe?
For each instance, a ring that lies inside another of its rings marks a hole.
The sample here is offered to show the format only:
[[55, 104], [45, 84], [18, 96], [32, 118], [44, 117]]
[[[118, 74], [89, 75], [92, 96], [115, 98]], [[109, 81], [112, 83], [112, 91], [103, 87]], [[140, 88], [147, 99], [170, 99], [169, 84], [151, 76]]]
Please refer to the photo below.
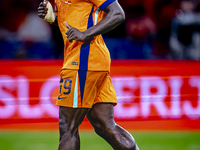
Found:
[[58, 25], [64, 39], [62, 69], [109, 71], [110, 53], [101, 35], [86, 41], [70, 43], [65, 21], [79, 31], [95, 26], [103, 19], [103, 9], [115, 0], [55, 0]]

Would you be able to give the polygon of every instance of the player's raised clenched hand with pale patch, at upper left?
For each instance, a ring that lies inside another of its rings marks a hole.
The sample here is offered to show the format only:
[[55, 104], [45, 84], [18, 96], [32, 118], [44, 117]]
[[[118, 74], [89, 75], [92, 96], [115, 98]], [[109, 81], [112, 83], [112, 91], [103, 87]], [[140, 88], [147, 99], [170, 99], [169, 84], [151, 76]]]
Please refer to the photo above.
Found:
[[48, 0], [44, 0], [39, 4], [38, 16], [50, 23], [55, 21], [55, 14], [53, 12], [53, 7]]

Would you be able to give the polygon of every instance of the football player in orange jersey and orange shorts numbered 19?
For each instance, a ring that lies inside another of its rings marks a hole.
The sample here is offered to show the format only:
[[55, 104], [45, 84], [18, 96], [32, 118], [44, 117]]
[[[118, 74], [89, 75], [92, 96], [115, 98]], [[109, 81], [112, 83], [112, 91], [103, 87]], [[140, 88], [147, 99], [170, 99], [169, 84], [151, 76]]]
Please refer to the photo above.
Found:
[[48, 14], [48, 3], [40, 3], [38, 16], [57, 22], [65, 44], [56, 103], [58, 149], [80, 149], [78, 127], [86, 116], [113, 149], [139, 150], [132, 135], [114, 121], [117, 96], [109, 76], [110, 54], [101, 36], [125, 20], [121, 6], [116, 0], [55, 0], [54, 17]]

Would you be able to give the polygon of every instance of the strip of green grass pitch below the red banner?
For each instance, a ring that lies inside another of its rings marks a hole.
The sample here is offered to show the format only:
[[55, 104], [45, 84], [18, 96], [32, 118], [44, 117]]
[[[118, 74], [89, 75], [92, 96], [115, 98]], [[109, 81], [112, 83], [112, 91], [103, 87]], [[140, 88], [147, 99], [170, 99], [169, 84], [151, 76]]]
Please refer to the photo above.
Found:
[[[140, 150], [200, 150], [200, 132], [131, 132]], [[94, 132], [81, 131], [81, 150], [112, 150]], [[1, 150], [56, 150], [58, 132], [0, 131]]]

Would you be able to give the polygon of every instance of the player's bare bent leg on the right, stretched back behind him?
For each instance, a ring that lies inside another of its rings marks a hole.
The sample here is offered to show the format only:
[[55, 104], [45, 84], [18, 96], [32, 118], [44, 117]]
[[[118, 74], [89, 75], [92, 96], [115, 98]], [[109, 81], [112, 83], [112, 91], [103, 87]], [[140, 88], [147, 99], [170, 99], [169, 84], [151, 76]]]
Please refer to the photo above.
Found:
[[115, 123], [113, 104], [95, 104], [88, 112], [87, 118], [95, 132], [114, 150], [139, 150], [132, 135]]

